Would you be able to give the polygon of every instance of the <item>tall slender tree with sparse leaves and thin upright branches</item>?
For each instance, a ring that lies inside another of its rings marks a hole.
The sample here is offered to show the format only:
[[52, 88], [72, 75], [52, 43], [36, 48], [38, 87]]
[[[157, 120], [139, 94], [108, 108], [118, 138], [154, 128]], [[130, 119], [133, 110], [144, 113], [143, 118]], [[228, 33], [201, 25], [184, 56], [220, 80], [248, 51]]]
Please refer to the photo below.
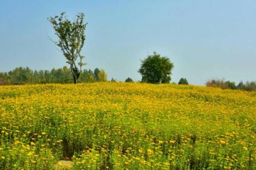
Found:
[[[58, 41], [53, 41], [51, 38], [50, 40], [61, 48], [64, 57], [67, 59], [67, 63], [70, 65], [73, 80], [76, 84], [80, 76], [81, 67], [85, 65], [82, 62], [84, 56], [80, 52], [84, 46], [84, 31], [87, 23], [84, 23], [83, 13], [78, 13], [73, 22], [68, 20], [67, 17], [64, 17], [64, 14], [65, 12], [62, 12], [60, 16], [47, 18], [52, 23], [55, 34], [59, 38]], [[76, 64], [76, 59], [78, 58], [80, 61]]]

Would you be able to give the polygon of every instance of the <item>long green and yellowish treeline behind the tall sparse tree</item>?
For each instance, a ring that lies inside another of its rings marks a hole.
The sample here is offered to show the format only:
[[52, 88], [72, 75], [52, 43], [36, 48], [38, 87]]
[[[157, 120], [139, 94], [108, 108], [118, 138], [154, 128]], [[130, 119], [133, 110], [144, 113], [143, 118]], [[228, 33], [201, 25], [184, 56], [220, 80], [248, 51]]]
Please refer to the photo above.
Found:
[[[79, 76], [79, 82], [106, 82], [107, 74], [104, 70], [95, 68], [94, 71], [84, 69]], [[35, 70], [26, 67], [15, 68], [12, 71], [0, 73], [0, 85], [24, 85], [24, 84], [45, 84], [45, 83], [73, 83], [70, 68], [49, 70]]]

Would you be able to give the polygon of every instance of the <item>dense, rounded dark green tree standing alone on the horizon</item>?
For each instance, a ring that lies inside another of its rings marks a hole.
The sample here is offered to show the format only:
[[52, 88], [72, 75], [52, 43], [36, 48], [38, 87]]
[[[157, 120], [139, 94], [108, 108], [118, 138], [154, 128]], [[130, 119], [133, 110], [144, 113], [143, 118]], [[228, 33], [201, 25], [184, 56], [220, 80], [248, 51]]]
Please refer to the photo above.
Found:
[[171, 81], [173, 63], [168, 57], [161, 57], [155, 51], [153, 55], [141, 60], [138, 72], [142, 75], [142, 82], [169, 83]]

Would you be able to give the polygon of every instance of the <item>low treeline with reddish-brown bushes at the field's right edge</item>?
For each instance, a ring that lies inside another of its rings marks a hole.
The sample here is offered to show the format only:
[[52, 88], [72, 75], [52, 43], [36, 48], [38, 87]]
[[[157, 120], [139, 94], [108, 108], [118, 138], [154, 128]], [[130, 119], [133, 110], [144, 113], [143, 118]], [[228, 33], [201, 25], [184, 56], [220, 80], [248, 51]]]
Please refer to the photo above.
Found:
[[239, 82], [239, 84], [236, 85], [235, 82], [225, 81], [224, 79], [212, 79], [206, 82], [206, 86], [222, 89], [241, 89], [245, 91], [256, 91], [256, 81], [247, 81], [245, 83]]

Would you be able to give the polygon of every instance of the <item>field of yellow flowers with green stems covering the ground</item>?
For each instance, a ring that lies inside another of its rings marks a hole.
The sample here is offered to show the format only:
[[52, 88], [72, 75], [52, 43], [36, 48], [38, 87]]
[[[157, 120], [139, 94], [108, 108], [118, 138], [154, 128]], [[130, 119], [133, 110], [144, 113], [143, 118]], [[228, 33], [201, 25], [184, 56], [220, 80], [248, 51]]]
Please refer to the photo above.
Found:
[[[72, 166], [61, 168], [62, 159]], [[255, 170], [256, 92], [121, 82], [0, 86], [0, 170], [65, 168]]]

